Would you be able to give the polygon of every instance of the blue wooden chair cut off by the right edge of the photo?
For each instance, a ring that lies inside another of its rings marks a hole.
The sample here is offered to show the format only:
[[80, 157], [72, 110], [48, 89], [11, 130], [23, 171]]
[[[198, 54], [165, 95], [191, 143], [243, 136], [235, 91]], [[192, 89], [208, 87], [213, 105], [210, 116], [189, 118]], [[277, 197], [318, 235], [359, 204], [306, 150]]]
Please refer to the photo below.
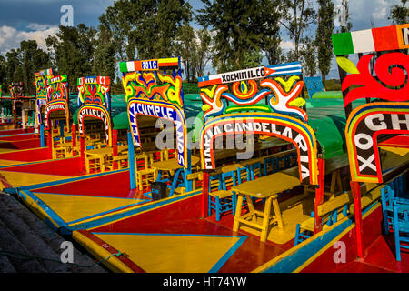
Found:
[[409, 206], [394, 200], [394, 245], [396, 260], [401, 261], [401, 248], [409, 250]]

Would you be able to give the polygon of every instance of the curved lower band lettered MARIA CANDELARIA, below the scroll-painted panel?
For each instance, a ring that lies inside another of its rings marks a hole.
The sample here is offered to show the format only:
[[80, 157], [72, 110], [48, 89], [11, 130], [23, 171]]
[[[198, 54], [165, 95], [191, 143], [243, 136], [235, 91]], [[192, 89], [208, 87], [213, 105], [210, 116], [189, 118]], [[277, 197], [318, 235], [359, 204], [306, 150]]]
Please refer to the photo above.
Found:
[[291, 142], [297, 149], [301, 182], [318, 184], [314, 130], [299, 119], [281, 114], [238, 113], [206, 122], [201, 134], [202, 168], [214, 169], [214, 139], [220, 135], [236, 134], [271, 135]]

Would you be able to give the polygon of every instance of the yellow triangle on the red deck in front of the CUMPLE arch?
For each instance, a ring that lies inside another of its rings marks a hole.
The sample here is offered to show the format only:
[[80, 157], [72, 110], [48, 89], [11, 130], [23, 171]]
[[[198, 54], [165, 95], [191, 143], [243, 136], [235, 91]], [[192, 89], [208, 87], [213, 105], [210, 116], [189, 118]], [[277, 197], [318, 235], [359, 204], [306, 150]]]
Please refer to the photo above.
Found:
[[143, 201], [142, 199], [57, 195], [48, 193], [35, 193], [35, 196], [43, 200], [45, 204], [53, 209], [66, 223]]

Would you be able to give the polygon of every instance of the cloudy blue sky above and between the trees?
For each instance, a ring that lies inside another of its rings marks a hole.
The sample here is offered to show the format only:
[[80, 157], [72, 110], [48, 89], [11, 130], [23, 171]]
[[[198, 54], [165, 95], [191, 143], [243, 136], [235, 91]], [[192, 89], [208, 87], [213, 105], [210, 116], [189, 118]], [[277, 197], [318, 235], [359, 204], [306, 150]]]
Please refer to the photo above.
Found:
[[[194, 10], [204, 7], [200, 0], [188, 1]], [[4, 55], [6, 51], [18, 48], [20, 42], [27, 39], [35, 39], [40, 47], [46, 49], [45, 37], [57, 33], [64, 15], [60, 11], [63, 5], [73, 6], [74, 25], [84, 23], [96, 27], [99, 23], [98, 17], [114, 2], [114, 0], [0, 0], [0, 54]], [[341, 5], [341, 0], [334, 0], [334, 4]], [[372, 28], [371, 22], [374, 23], [374, 27], [390, 25], [387, 19], [389, 8], [396, 4], [400, 4], [400, 0], [350, 0], [352, 30]], [[195, 23], [192, 25], [196, 26]], [[336, 21], [335, 25], [338, 25]], [[315, 27], [311, 27], [310, 34], [314, 34], [314, 29]], [[284, 30], [281, 31], [281, 35], [284, 50], [293, 47]], [[332, 69], [327, 76], [329, 78], [338, 78], [334, 64], [333, 60]]]

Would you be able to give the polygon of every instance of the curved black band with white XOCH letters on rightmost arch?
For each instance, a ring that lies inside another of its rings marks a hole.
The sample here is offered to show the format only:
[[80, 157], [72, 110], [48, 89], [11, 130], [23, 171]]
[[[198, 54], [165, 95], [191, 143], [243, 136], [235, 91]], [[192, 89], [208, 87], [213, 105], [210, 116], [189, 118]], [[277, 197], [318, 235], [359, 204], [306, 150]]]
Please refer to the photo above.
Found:
[[354, 109], [346, 125], [346, 143], [354, 181], [382, 183], [377, 137], [409, 134], [409, 105], [372, 103]]

